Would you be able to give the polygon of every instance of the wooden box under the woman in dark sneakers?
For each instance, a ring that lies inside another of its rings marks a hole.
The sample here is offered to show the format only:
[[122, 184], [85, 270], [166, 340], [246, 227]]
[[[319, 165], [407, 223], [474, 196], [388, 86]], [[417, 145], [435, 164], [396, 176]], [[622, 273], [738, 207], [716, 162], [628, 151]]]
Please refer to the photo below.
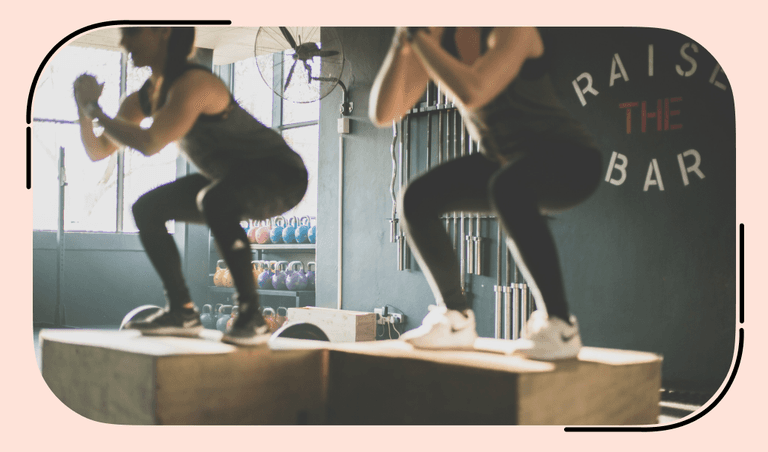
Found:
[[137, 331], [42, 330], [42, 373], [51, 391], [89, 419], [114, 424], [324, 422], [323, 356], [235, 347]]

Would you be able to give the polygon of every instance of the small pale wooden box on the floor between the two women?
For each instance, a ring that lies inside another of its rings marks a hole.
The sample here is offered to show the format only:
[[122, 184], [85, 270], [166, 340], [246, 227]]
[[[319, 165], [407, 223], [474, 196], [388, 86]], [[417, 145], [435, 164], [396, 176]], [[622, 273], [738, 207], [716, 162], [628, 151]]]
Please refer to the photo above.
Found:
[[289, 322], [309, 322], [320, 327], [331, 342], [376, 340], [376, 314], [317, 307], [289, 308]]

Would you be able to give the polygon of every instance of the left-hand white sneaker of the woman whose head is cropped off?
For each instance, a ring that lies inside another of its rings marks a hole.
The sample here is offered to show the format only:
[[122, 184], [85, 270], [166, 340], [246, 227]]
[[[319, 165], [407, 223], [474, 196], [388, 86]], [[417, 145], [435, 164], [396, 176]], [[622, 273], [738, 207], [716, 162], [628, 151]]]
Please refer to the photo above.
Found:
[[421, 326], [400, 336], [416, 348], [471, 349], [477, 339], [475, 314], [471, 309], [463, 312], [445, 306], [429, 306], [429, 314]]

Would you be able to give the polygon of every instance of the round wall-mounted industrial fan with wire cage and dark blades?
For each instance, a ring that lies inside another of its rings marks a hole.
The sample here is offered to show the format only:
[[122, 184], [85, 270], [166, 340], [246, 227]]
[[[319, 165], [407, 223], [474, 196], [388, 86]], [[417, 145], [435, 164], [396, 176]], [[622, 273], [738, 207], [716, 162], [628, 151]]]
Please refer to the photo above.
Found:
[[341, 83], [344, 53], [333, 28], [321, 39], [320, 27], [260, 27], [254, 56], [267, 86], [292, 102], [315, 102]]

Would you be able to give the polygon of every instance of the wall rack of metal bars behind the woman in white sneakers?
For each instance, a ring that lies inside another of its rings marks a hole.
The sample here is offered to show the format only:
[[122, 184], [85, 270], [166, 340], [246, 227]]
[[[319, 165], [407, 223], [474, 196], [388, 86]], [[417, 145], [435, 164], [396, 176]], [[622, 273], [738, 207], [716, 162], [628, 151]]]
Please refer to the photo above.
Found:
[[[435, 118], [436, 124], [433, 124]], [[433, 136], [435, 128], [437, 133]], [[424, 129], [425, 142], [422, 140], [423, 134], [418, 134]], [[418, 132], [413, 134], [414, 130]], [[479, 143], [469, 136], [458, 108], [449, 101], [439, 84], [434, 82], [427, 84], [425, 102], [408, 111], [399, 121], [392, 122], [392, 177], [389, 186], [392, 215], [389, 218], [389, 237], [390, 242], [397, 247], [398, 271], [411, 269], [411, 253], [400, 224], [398, 192], [410, 182], [412, 176], [418, 176], [434, 166], [479, 151]], [[417, 165], [414, 165], [414, 162]], [[423, 165], [423, 172], [414, 168], [419, 163]], [[413, 175], [412, 169], [416, 169]], [[494, 215], [468, 212], [450, 212], [440, 218], [445, 221], [446, 231], [451, 237], [454, 251], [459, 256], [461, 287], [464, 291], [468, 290], [467, 275], [490, 276], [486, 263], [489, 262], [487, 259], [493, 240], [482, 234], [483, 231], [491, 229], [490, 223], [495, 224], [497, 234], [496, 285], [493, 286], [494, 336], [504, 339], [521, 337], [526, 321], [534, 311], [535, 300], [509, 249], [504, 245], [504, 234], [498, 218]]]

